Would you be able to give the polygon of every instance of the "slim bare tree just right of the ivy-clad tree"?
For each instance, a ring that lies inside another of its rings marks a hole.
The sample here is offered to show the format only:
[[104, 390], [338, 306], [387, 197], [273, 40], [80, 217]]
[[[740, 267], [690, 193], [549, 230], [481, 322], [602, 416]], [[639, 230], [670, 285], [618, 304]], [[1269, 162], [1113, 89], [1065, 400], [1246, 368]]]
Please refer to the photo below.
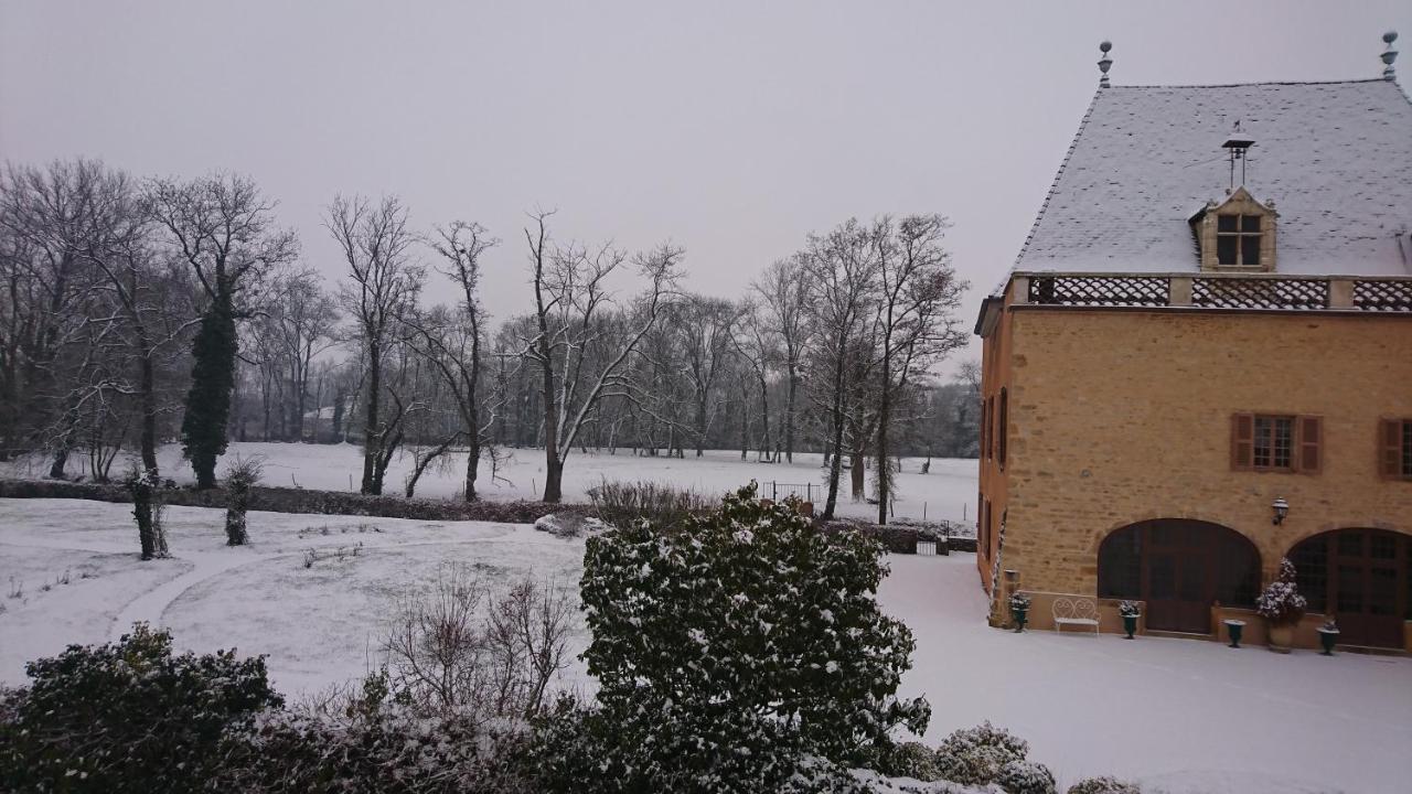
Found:
[[[343, 304], [357, 325], [366, 366], [363, 387], [361, 493], [381, 494], [383, 476], [398, 441], [404, 404], [384, 380], [384, 356], [402, 319], [417, 305], [425, 271], [411, 261], [415, 236], [407, 227], [407, 208], [384, 196], [373, 205], [363, 196], [336, 196], [328, 206], [325, 226], [349, 266], [352, 284], [342, 290]], [[383, 415], [383, 396], [397, 405]]]

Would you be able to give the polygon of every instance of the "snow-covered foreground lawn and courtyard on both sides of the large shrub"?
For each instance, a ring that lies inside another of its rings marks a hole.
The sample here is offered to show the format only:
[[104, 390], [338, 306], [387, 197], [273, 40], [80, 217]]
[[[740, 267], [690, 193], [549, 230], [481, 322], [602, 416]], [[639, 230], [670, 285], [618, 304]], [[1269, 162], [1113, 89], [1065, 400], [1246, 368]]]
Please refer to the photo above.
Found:
[[[527, 526], [251, 513], [253, 544], [227, 548], [220, 520], [171, 509], [176, 559], [143, 564], [126, 506], [0, 500], [0, 680], [148, 620], [182, 647], [265, 653], [277, 687], [311, 692], [360, 677], [391, 598], [442, 561], [494, 581], [582, 572], [582, 540]], [[306, 568], [309, 550], [321, 558]], [[1149, 793], [1384, 794], [1412, 780], [1409, 658], [1017, 636], [984, 624], [973, 555], [890, 562], [881, 600], [918, 639], [902, 694], [931, 699], [928, 743], [990, 719], [1063, 784], [1113, 773]], [[562, 684], [590, 687], [582, 670]]]

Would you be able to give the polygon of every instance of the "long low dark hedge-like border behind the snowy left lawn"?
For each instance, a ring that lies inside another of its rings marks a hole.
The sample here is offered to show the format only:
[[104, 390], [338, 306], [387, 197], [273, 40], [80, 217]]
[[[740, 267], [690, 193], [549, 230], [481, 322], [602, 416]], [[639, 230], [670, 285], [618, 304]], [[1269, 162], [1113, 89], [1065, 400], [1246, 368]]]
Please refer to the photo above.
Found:
[[[117, 485], [75, 483], [65, 480], [0, 479], [3, 499], [90, 499], [95, 502], [131, 502]], [[225, 507], [226, 492], [216, 487], [195, 490], [176, 487], [165, 492], [167, 504], [184, 507]], [[551, 504], [546, 502], [452, 502], [443, 499], [404, 499], [398, 496], [363, 496], [337, 490], [301, 487], [250, 489], [250, 509], [273, 513], [321, 513], [328, 516], [377, 516], [383, 519], [418, 519], [424, 521], [500, 521], [532, 524], [549, 513], [580, 513], [587, 504]]]

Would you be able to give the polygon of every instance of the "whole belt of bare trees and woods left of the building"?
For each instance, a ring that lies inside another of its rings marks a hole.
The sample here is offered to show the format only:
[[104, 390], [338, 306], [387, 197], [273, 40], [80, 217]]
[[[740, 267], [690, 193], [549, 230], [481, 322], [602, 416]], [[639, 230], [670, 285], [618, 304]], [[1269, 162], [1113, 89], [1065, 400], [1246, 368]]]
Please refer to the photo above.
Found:
[[[11, 164], [0, 458], [107, 480], [130, 456], [158, 482], [158, 445], [179, 442], [210, 487], [232, 439], [353, 442], [363, 493], [405, 458], [407, 496], [465, 466], [474, 500], [505, 449], [542, 448], [555, 502], [590, 449], [809, 451], [826, 456], [826, 514], [846, 479], [885, 519], [891, 461], [976, 454], [977, 367], [936, 377], [964, 340], [942, 218], [849, 220], [734, 298], [685, 291], [678, 247], [561, 240], [554, 220], [531, 213], [503, 240], [470, 219], [419, 226], [395, 196], [335, 196], [339, 261], [315, 263], [246, 177]], [[487, 309], [487, 257], [522, 263], [522, 311]]]

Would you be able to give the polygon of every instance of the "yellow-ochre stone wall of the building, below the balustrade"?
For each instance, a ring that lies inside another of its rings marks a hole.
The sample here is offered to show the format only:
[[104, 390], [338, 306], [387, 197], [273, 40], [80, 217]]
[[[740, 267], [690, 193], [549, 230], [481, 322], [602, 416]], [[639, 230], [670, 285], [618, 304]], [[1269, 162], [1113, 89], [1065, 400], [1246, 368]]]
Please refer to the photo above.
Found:
[[[1001, 595], [1093, 596], [1099, 544], [1148, 519], [1237, 530], [1260, 550], [1264, 582], [1327, 530], [1412, 534], [1412, 482], [1377, 469], [1380, 418], [1412, 417], [1412, 315], [1036, 307], [1014, 291], [983, 353], [986, 404], [1003, 389], [1008, 404], [988, 445], [1007, 434], [1004, 468], [986, 451], [980, 461], [994, 516], [977, 554], [986, 588], [1001, 517], [1000, 567], [1017, 572]], [[1322, 470], [1231, 470], [1241, 411], [1323, 417]], [[1275, 497], [1289, 503], [1279, 526]], [[1042, 627], [1048, 612], [1032, 613]]]

